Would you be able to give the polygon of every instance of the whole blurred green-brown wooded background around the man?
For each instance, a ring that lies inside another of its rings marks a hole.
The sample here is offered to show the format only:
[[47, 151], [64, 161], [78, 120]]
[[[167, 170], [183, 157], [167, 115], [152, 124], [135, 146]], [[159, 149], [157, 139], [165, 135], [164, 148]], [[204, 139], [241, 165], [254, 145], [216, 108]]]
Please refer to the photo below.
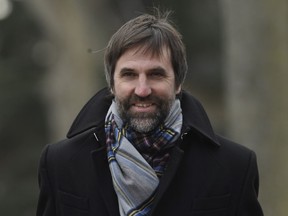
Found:
[[153, 5], [183, 34], [184, 88], [218, 133], [257, 153], [265, 215], [287, 215], [287, 0], [0, 0], [1, 215], [35, 215], [44, 145], [105, 86], [111, 35]]

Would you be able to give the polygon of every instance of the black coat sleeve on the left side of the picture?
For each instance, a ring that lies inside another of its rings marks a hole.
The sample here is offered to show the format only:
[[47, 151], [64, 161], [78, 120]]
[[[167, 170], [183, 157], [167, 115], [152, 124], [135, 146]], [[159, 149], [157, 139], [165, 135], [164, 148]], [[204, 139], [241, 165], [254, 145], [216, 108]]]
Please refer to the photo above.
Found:
[[52, 193], [51, 184], [47, 170], [47, 154], [49, 145], [45, 147], [40, 158], [40, 166], [38, 170], [38, 180], [40, 194], [36, 216], [56, 216], [54, 195]]

